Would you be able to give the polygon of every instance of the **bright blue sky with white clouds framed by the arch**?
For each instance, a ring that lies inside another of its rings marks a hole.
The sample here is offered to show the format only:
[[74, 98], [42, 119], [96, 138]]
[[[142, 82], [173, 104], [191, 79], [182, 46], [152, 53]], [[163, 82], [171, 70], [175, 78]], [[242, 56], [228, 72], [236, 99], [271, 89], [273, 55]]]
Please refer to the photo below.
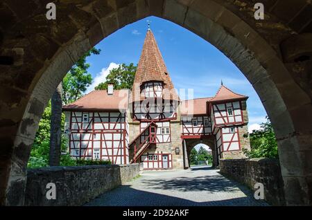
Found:
[[101, 49], [101, 55], [92, 55], [87, 59], [91, 64], [89, 72], [94, 77], [94, 84], [87, 92], [103, 82], [110, 69], [117, 64], [139, 62], [148, 20], [151, 21], [150, 28], [178, 91], [194, 89], [195, 98], [211, 97], [218, 91], [223, 80], [223, 84], [232, 91], [250, 97], [250, 128], [258, 128], [265, 121], [266, 111], [259, 96], [231, 60], [205, 39], [171, 21], [157, 17], [148, 17], [125, 26], [96, 46]]

